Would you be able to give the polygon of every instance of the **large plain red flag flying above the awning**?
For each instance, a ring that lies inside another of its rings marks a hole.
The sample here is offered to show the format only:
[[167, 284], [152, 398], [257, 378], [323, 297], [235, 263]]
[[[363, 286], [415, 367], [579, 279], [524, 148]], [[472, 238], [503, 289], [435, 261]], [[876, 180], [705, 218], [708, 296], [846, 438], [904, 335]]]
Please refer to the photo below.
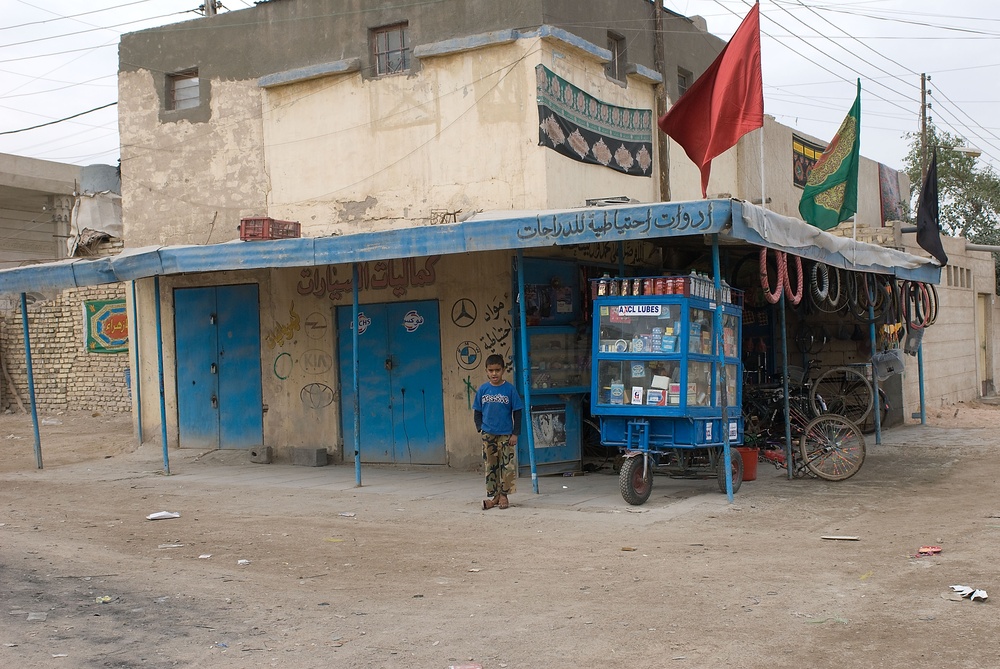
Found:
[[660, 117], [659, 126], [701, 169], [701, 195], [708, 197], [712, 158], [763, 125], [760, 5], [754, 4], [715, 62]]

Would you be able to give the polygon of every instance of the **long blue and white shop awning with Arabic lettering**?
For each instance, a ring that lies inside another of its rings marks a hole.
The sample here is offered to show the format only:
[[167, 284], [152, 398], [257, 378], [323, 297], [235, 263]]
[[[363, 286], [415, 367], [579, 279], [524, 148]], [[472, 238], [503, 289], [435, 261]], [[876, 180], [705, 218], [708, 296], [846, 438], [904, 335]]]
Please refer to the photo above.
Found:
[[477, 214], [461, 223], [333, 237], [128, 249], [113, 257], [0, 270], [0, 294], [63, 290], [153, 276], [388, 260], [718, 233], [857, 271], [938, 283], [929, 258], [856, 242], [738, 200], [658, 202]]

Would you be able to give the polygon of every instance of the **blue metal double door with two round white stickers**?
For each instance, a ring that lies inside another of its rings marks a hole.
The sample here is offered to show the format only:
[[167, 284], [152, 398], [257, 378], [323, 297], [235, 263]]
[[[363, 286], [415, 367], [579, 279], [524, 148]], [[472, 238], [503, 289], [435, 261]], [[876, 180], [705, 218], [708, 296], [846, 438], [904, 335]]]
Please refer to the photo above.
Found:
[[[360, 312], [362, 461], [446, 464], [437, 302], [366, 304]], [[351, 315], [351, 307], [337, 309], [345, 453], [354, 448]]]

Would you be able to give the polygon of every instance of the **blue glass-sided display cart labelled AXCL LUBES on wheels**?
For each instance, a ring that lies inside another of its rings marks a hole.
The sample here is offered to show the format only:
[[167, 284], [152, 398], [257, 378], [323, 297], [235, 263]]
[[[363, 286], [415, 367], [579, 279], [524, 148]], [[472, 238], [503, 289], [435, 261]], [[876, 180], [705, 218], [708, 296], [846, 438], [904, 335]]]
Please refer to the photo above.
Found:
[[595, 290], [590, 411], [602, 443], [625, 452], [622, 494], [641, 504], [651, 474], [631, 456], [680, 463], [687, 473], [696, 460], [678, 451], [700, 449], [705, 467], [721, 473], [725, 443], [743, 441], [741, 294], [696, 277], [671, 278], [664, 288], [610, 281], [618, 287]]

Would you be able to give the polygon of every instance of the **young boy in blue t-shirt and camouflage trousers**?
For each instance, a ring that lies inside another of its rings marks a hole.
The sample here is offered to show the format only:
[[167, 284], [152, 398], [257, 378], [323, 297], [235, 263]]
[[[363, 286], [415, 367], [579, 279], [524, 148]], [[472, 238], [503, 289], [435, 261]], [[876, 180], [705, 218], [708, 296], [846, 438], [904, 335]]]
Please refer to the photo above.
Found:
[[483, 461], [486, 463], [486, 494], [483, 509], [498, 506], [506, 509], [507, 495], [517, 481], [517, 435], [521, 432], [524, 404], [517, 389], [503, 380], [502, 355], [486, 358], [486, 383], [476, 391], [472, 404], [476, 430], [483, 437]]

